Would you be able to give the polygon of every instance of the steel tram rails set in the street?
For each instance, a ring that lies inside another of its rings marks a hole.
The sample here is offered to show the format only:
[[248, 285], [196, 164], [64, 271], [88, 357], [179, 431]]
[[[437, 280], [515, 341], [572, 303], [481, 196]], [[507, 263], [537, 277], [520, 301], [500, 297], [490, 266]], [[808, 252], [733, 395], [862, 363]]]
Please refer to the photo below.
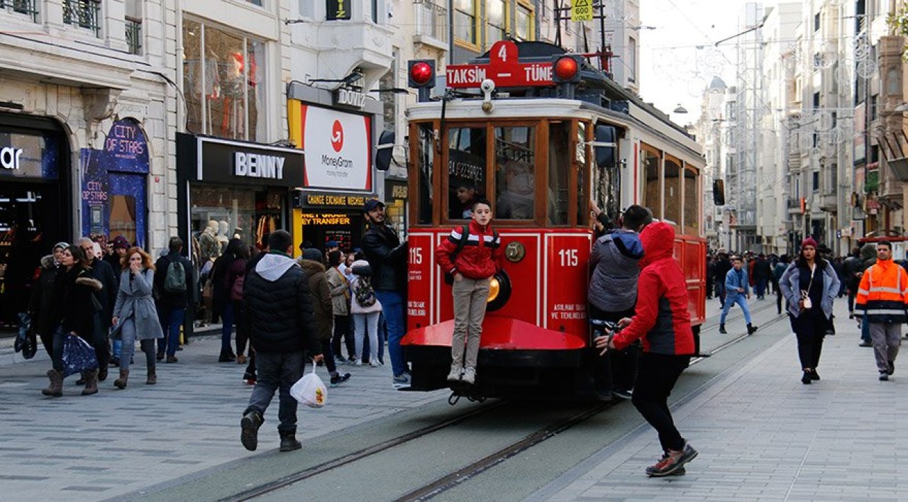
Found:
[[[763, 311], [770, 307], [775, 307], [775, 305], [766, 304], [761, 306], [758, 309], [754, 310], [754, 313]], [[736, 317], [743, 317], [742, 314], [738, 314]], [[731, 319], [736, 319], [735, 317]], [[763, 326], [771, 326], [776, 322], [785, 319], [784, 317], [777, 317], [772, 320], [768, 320], [763, 323]], [[705, 328], [715, 328], [718, 323], [713, 323], [710, 326]], [[720, 352], [724, 349], [732, 347], [736, 343], [740, 343], [745, 339], [750, 338], [750, 335], [742, 334], [733, 339], [726, 340], [725, 342], [719, 344], [716, 347], [710, 348], [708, 355], [712, 356], [717, 352]], [[691, 360], [691, 365], [695, 365], [702, 360], [706, 359], [705, 357], [696, 357]], [[348, 466], [354, 462], [360, 461], [363, 458], [372, 457], [380, 452], [384, 452], [389, 448], [396, 448], [411, 441], [422, 438], [433, 432], [437, 432], [444, 428], [450, 428], [456, 426], [460, 423], [463, 423], [471, 418], [478, 418], [481, 415], [488, 414], [489, 412], [496, 410], [498, 408], [504, 407], [508, 404], [507, 399], [501, 399], [496, 401], [491, 401], [488, 404], [482, 404], [479, 408], [471, 409], [455, 418], [449, 418], [447, 420], [440, 421], [439, 423], [432, 424], [423, 428], [418, 428], [413, 431], [410, 431], [407, 434], [400, 435], [395, 438], [389, 438], [387, 440], [381, 441], [375, 445], [372, 445], [367, 448], [360, 448], [356, 451], [350, 452], [341, 456], [340, 458], [335, 458], [326, 462], [323, 462], [319, 465], [313, 466], [311, 468], [306, 468], [300, 472], [293, 473], [289, 476], [280, 477], [259, 485], [257, 487], [251, 487], [242, 492], [236, 493], [231, 497], [223, 497], [220, 500], [223, 502], [233, 502], [241, 500], [249, 500], [255, 497], [261, 497], [264, 495], [271, 494], [278, 490], [281, 490], [285, 487], [290, 487], [301, 481], [305, 481], [312, 477], [317, 477], [321, 474], [327, 473], [331, 470], [342, 468]], [[597, 402], [591, 406], [585, 407], [574, 413], [573, 415], [567, 418], [558, 419], [538, 430], [528, 434], [524, 438], [519, 439], [518, 441], [504, 447], [499, 448], [497, 451], [483, 457], [478, 460], [469, 463], [468, 465], [458, 468], [441, 477], [437, 477], [433, 481], [423, 485], [421, 487], [416, 487], [411, 489], [409, 492], [404, 495], [396, 498], [398, 501], [410, 501], [410, 500], [429, 500], [433, 497], [437, 497], [446, 491], [458, 487], [459, 485], [468, 482], [470, 479], [481, 475], [482, 473], [488, 471], [490, 468], [495, 468], [496, 466], [507, 461], [509, 458], [513, 458], [524, 451], [527, 451], [529, 448], [538, 446], [540, 443], [547, 441], [550, 438], [562, 434], [570, 428], [574, 428], [577, 425], [587, 421], [589, 418], [597, 416], [599, 413], [606, 411], [609, 408], [616, 406], [618, 403], [622, 402], [621, 400], [612, 400], [607, 402]]]

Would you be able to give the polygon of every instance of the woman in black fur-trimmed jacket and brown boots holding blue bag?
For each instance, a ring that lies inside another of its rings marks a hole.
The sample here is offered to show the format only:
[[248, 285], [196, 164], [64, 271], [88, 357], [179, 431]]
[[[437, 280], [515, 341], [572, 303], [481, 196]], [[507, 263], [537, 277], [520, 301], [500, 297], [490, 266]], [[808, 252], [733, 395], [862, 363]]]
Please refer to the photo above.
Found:
[[[90, 342], [94, 336], [94, 312], [96, 305], [94, 292], [103, 287], [101, 281], [91, 277], [86, 270], [88, 258], [79, 246], [67, 246], [61, 255], [60, 266], [54, 278], [54, 299], [51, 313], [54, 319], [54, 343], [51, 360], [54, 368], [47, 371], [51, 380], [50, 386], [41, 391], [44, 396], [63, 396], [63, 379], [72, 369], [64, 367], [64, 340], [67, 336], [79, 337]], [[68, 344], [75, 347], [75, 344]], [[88, 364], [88, 363], [86, 363]], [[83, 396], [98, 392], [98, 366], [82, 368], [85, 371], [85, 389]]]

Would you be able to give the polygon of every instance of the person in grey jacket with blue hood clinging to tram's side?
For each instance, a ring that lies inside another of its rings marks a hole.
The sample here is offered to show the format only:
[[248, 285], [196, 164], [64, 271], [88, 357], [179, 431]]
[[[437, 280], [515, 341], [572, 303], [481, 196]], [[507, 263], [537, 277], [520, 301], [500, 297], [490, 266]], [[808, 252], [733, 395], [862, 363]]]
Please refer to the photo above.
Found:
[[[608, 232], [593, 244], [589, 255], [589, 320], [617, 322], [634, 317], [640, 275], [637, 261], [644, 253], [638, 232], [652, 221], [653, 214], [648, 209], [632, 205], [624, 212], [621, 228]], [[638, 348], [639, 344], [635, 344], [625, 350], [610, 351], [609, 360], [603, 360], [598, 369], [606, 372], [606, 363], [611, 363], [611, 391], [619, 398], [631, 397]]]

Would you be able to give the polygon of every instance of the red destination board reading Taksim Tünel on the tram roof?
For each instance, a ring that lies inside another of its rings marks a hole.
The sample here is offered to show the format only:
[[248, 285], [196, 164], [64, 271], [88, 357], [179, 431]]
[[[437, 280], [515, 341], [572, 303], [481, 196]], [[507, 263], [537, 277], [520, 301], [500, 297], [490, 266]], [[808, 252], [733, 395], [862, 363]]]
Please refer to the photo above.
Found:
[[554, 85], [550, 62], [520, 63], [517, 44], [498, 41], [489, 51], [488, 64], [449, 64], [446, 76], [448, 87], [466, 89], [479, 87], [483, 80], [492, 79], [498, 87], [538, 87]]

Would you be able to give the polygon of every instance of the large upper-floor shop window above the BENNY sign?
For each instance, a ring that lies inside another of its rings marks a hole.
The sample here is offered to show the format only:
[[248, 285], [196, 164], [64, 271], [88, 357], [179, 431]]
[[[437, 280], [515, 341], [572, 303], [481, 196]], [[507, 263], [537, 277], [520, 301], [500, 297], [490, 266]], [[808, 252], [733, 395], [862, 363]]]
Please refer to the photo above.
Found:
[[265, 141], [264, 42], [183, 21], [183, 92], [192, 133]]

